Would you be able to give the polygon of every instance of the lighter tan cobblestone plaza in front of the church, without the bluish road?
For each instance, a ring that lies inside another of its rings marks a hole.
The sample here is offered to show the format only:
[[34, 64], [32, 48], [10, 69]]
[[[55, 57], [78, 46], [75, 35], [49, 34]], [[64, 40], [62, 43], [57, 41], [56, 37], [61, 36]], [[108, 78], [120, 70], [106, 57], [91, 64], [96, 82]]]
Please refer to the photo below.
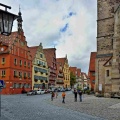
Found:
[[120, 99], [95, 97], [94, 95], [83, 95], [83, 102], [74, 102], [74, 94], [66, 96], [66, 104], [63, 104], [61, 95], [50, 102], [57, 106], [62, 106], [81, 113], [98, 116], [108, 120], [120, 120]]

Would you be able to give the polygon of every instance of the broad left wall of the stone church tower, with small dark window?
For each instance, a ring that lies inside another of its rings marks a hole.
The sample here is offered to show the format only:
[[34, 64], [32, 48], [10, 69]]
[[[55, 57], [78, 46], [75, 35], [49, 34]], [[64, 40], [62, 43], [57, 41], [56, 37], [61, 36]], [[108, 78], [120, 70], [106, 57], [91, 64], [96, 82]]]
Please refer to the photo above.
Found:
[[[120, 0], [97, 0], [97, 56], [95, 92], [112, 92], [115, 52], [115, 6]], [[116, 64], [116, 63], [115, 63]]]

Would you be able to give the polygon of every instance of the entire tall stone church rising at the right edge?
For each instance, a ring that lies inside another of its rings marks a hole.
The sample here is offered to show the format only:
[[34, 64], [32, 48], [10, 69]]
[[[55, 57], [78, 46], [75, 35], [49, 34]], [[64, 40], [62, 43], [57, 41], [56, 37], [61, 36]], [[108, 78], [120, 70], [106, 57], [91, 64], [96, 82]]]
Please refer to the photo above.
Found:
[[120, 0], [97, 0], [95, 92], [120, 95]]

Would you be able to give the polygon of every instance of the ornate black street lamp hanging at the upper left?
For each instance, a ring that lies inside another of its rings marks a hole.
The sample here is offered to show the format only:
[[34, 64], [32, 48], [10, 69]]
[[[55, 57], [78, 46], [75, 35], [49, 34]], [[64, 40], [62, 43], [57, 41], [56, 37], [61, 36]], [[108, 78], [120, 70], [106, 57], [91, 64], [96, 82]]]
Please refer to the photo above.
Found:
[[0, 33], [3, 35], [10, 35], [13, 21], [17, 18], [17, 15], [7, 11], [7, 8], [11, 9], [10, 6], [1, 3], [0, 5], [5, 7], [5, 11], [0, 9]]

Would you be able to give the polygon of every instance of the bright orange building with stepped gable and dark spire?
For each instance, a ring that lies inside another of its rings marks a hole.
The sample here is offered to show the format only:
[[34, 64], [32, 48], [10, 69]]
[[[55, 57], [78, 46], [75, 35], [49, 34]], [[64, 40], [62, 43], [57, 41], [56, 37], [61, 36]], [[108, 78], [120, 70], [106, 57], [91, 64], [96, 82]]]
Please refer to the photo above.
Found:
[[2, 94], [19, 94], [31, 89], [31, 64], [19, 12], [18, 31], [10, 36], [0, 35], [0, 79], [4, 80]]

